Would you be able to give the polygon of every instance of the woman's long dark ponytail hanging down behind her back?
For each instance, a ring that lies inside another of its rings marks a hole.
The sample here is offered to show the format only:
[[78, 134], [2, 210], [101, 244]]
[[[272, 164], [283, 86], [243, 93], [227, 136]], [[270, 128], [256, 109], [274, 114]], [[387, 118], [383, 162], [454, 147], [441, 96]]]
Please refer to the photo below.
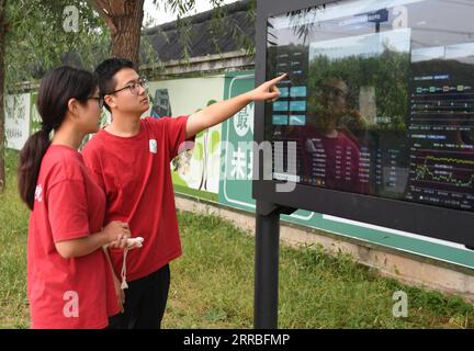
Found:
[[18, 168], [18, 183], [20, 197], [29, 208], [33, 211], [36, 183], [40, 176], [40, 168], [43, 156], [49, 147], [49, 128], [43, 127], [26, 140], [20, 151]]

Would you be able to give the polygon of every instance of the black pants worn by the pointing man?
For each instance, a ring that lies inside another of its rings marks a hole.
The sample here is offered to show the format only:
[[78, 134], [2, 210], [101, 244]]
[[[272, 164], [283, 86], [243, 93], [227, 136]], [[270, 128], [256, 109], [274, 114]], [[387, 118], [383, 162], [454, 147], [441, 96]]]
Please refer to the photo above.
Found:
[[109, 318], [109, 329], [159, 329], [170, 286], [169, 264], [127, 282], [124, 313]]

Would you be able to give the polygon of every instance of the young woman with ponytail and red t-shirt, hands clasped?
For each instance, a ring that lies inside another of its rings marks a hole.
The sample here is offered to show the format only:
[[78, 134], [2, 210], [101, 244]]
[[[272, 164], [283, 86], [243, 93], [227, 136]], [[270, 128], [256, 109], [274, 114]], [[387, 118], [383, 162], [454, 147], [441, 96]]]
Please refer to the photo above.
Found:
[[111, 222], [102, 228], [105, 195], [78, 152], [82, 138], [98, 132], [102, 104], [95, 77], [84, 70], [56, 68], [40, 86], [42, 129], [21, 150], [18, 169], [20, 196], [32, 211], [32, 328], [105, 328], [121, 309], [102, 247], [124, 248], [128, 225]]

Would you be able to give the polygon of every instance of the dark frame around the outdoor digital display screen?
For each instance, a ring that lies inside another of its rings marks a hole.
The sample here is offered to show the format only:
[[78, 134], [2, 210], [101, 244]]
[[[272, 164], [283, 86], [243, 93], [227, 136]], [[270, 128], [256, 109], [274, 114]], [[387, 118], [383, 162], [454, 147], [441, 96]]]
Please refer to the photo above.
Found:
[[[259, 0], [256, 31], [256, 86], [273, 77], [267, 75], [267, 24], [270, 16], [302, 10], [336, 0]], [[255, 106], [255, 141], [264, 140], [264, 102]], [[253, 157], [253, 168], [263, 174], [262, 157]], [[474, 246], [470, 225], [474, 213], [437, 207], [403, 200], [391, 200], [338, 190], [295, 184], [292, 192], [276, 192], [275, 180], [253, 180], [252, 196], [285, 207], [301, 208], [377, 226], [415, 233], [448, 241]]]

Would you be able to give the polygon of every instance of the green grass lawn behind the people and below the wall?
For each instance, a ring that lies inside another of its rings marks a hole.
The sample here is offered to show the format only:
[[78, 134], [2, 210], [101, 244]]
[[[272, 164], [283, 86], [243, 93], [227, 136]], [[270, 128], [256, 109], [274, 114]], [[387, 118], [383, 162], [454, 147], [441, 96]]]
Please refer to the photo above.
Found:
[[[16, 154], [7, 157], [0, 195], [0, 328], [27, 328], [27, 211], [16, 194]], [[215, 216], [178, 214], [183, 256], [171, 264], [163, 328], [251, 328], [253, 239]], [[408, 317], [392, 314], [394, 292], [408, 296]], [[474, 328], [474, 307], [461, 298], [403, 285], [350, 257], [317, 247], [283, 247], [281, 328]]]

